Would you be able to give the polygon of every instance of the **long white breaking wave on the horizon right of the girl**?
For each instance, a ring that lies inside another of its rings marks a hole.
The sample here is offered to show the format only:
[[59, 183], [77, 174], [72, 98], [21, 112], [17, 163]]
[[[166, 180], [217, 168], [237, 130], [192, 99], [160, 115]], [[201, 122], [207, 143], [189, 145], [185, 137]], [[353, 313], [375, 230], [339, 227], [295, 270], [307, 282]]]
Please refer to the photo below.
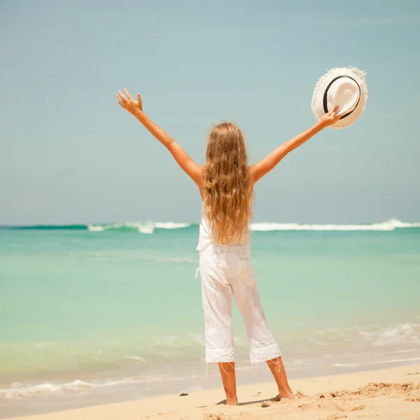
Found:
[[405, 223], [392, 218], [384, 223], [371, 225], [300, 225], [299, 223], [253, 223], [254, 232], [269, 232], [271, 230], [395, 230], [396, 228], [420, 228], [420, 223]]

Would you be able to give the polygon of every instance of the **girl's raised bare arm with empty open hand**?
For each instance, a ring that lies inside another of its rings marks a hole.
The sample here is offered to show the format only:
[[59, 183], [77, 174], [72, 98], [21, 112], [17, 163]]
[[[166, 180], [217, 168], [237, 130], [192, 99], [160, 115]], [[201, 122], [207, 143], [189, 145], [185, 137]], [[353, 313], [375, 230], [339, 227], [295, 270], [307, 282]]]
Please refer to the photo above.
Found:
[[140, 94], [137, 94], [137, 101], [132, 99], [130, 93], [124, 89], [127, 98], [122, 92], [118, 90], [117, 98], [118, 104], [122, 106], [125, 110], [130, 112], [141, 124], [146, 127], [146, 129], [153, 134], [153, 136], [160, 141], [160, 143], [165, 146], [168, 151], [172, 154], [178, 165], [183, 169], [183, 171], [190, 176], [191, 179], [197, 184], [201, 189], [202, 187], [202, 167], [194, 162], [190, 158], [188, 153], [183, 150], [181, 146], [174, 139], [172, 139], [169, 134], [162, 130], [158, 125], [153, 123], [153, 121], [146, 116], [143, 112], [143, 106], [141, 104]]

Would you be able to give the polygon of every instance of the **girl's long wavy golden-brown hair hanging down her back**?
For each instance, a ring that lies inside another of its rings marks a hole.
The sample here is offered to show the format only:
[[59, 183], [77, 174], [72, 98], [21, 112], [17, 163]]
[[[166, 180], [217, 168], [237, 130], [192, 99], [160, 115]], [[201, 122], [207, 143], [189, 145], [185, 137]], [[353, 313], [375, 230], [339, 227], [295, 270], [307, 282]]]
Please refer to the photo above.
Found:
[[214, 127], [207, 141], [203, 199], [218, 244], [241, 244], [249, 238], [253, 182], [244, 136], [233, 123]]

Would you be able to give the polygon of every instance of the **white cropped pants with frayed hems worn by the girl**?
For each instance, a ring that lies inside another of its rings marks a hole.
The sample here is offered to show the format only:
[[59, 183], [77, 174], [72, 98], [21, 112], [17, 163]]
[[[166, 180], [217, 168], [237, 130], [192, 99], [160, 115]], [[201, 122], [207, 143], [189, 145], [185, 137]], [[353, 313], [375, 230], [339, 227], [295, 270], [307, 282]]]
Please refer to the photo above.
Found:
[[251, 363], [280, 357], [267, 328], [251, 267], [249, 246], [208, 246], [200, 252], [206, 363], [235, 362], [232, 295], [244, 319]]

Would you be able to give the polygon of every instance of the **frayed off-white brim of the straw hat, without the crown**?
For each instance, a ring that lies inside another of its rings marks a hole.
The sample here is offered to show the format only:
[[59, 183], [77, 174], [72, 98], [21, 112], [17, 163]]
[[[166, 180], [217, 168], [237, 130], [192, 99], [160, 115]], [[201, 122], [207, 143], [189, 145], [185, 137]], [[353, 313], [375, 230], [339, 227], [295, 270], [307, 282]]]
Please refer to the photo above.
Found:
[[366, 73], [364, 71], [356, 69], [356, 67], [338, 67], [336, 69], [331, 69], [318, 80], [314, 89], [314, 94], [312, 95], [311, 109], [318, 120], [325, 115], [325, 109], [323, 106], [325, 90], [328, 88], [328, 85], [330, 85], [332, 80], [338, 78], [339, 76], [348, 76], [356, 81], [360, 87], [360, 99], [351, 113], [343, 116], [342, 119], [335, 123], [335, 125], [331, 126], [331, 128], [336, 130], [349, 127], [349, 125], [353, 124], [358, 118], [360, 118], [365, 111], [367, 102], [367, 85], [365, 80]]

